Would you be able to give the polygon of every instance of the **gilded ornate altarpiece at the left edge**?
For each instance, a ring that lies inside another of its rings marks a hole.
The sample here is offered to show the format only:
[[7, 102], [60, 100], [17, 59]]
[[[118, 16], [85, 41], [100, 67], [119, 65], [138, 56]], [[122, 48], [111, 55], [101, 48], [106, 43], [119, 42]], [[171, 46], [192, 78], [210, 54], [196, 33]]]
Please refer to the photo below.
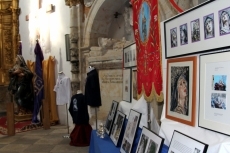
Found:
[[19, 41], [19, 0], [0, 0], [0, 85], [8, 85]]

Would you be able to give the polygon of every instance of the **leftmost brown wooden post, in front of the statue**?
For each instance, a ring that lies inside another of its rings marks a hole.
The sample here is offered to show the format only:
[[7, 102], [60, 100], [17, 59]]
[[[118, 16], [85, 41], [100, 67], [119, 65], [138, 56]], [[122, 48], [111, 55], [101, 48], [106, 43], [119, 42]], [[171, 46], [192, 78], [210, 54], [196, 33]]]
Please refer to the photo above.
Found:
[[7, 109], [7, 134], [8, 136], [15, 135], [15, 127], [14, 127], [14, 103], [9, 102], [6, 104]]

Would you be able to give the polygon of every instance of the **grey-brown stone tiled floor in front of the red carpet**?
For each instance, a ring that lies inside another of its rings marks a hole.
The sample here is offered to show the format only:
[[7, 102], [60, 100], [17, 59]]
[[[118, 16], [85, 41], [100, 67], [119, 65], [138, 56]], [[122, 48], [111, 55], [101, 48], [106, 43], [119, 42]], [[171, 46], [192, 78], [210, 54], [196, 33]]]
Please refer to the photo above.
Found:
[[70, 146], [70, 139], [63, 137], [66, 135], [66, 126], [0, 135], [0, 153], [88, 153], [89, 147]]

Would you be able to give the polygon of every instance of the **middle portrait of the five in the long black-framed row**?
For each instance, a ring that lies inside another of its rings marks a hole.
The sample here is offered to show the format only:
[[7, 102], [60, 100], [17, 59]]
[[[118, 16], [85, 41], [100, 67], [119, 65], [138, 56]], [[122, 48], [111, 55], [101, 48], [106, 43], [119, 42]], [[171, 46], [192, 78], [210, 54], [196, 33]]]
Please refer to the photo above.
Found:
[[192, 42], [200, 41], [200, 20], [191, 21], [191, 40]]

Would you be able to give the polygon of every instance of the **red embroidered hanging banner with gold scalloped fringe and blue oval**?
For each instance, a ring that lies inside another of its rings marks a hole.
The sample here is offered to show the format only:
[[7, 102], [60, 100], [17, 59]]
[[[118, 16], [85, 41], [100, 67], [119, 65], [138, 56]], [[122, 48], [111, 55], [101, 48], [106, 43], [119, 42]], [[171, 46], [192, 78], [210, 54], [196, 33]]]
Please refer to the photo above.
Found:
[[163, 101], [158, 0], [132, 0], [138, 95]]

